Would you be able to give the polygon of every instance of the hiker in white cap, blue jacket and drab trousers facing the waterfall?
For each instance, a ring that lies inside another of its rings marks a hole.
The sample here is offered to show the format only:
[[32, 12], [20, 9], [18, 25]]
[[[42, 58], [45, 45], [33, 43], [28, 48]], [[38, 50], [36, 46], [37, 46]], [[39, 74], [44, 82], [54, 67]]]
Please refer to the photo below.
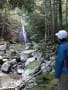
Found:
[[68, 90], [68, 33], [65, 30], [60, 30], [55, 36], [59, 44], [55, 65], [55, 78], [58, 80], [58, 90]]

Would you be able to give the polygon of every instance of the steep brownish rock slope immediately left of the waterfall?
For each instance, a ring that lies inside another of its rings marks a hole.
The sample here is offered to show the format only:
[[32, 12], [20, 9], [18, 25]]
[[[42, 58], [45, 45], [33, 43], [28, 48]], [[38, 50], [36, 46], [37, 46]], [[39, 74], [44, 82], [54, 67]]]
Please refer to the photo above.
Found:
[[[3, 20], [4, 19], [4, 20]], [[0, 39], [18, 41], [20, 26], [15, 20], [2, 16], [0, 12]]]

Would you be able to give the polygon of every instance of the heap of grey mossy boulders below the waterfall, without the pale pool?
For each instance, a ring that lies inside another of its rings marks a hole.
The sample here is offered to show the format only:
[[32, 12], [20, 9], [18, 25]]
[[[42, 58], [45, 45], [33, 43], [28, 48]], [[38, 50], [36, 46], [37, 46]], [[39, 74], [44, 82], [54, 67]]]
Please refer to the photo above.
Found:
[[35, 76], [39, 73], [51, 71], [55, 63], [54, 53], [45, 56], [45, 58], [36, 46], [34, 46], [34, 49], [21, 52], [14, 51], [10, 46], [9, 50], [4, 54], [0, 54], [0, 71], [7, 75], [21, 76], [20, 83], [18, 84], [20, 88], [31, 88], [36, 85]]

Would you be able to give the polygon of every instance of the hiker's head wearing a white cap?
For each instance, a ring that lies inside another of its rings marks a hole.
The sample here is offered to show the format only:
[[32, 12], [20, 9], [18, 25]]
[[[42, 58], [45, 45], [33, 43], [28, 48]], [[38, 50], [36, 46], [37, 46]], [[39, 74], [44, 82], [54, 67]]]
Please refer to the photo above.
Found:
[[58, 31], [55, 36], [57, 37], [58, 42], [66, 41], [68, 37], [68, 32], [65, 30]]

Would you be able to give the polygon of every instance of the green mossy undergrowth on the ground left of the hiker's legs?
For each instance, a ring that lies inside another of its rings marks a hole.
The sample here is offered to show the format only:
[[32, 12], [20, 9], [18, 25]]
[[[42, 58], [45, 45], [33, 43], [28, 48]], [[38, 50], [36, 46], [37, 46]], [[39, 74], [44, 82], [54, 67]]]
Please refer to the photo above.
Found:
[[37, 86], [30, 90], [57, 90], [57, 81], [54, 79], [53, 72], [41, 74], [36, 77]]

